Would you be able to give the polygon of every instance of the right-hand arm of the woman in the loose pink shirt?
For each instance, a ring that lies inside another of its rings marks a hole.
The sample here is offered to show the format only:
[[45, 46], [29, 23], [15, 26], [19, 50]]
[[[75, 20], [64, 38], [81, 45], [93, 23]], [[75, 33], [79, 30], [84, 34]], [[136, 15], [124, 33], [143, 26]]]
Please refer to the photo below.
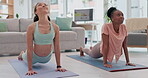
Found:
[[128, 54], [128, 49], [127, 49], [127, 37], [125, 37], [122, 47], [123, 47], [124, 54], [125, 54], [126, 65], [135, 66], [129, 61], [129, 54]]

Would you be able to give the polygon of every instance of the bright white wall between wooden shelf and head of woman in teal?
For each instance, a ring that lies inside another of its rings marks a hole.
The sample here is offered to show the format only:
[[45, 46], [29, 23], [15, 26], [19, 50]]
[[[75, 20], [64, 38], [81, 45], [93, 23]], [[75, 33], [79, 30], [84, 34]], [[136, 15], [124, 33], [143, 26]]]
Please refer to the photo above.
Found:
[[14, 18], [16, 18], [17, 13], [19, 18], [32, 18], [34, 6], [37, 2], [50, 4], [50, 0], [14, 0]]

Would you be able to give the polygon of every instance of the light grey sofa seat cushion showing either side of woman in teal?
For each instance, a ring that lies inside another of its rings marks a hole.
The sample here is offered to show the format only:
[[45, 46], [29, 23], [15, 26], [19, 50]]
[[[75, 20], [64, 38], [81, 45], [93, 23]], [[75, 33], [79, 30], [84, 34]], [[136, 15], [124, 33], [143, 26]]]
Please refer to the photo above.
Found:
[[[60, 41], [74, 41], [77, 39], [77, 33], [74, 31], [60, 31]], [[1, 32], [0, 44], [5, 43], [25, 43], [26, 32]]]

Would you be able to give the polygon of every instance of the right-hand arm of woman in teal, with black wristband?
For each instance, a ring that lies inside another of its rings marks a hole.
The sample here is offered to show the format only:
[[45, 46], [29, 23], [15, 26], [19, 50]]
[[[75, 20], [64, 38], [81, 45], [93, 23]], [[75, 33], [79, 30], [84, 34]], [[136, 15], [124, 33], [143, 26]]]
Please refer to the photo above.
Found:
[[57, 71], [65, 72], [65, 69], [61, 68], [60, 63], [60, 40], [59, 40], [59, 27], [56, 24], [54, 25], [55, 29], [55, 38], [54, 38], [54, 51], [55, 51], [55, 57], [56, 57], [56, 63], [57, 63]]

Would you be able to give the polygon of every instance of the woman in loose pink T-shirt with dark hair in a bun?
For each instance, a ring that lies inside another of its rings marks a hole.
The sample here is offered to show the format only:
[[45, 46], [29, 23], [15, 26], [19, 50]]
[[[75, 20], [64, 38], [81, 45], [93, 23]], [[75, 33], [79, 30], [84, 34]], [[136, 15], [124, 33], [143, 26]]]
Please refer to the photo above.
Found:
[[97, 43], [90, 49], [80, 47], [80, 56], [84, 56], [84, 53], [93, 58], [103, 57], [103, 64], [105, 67], [111, 68], [112, 65], [108, 62], [112, 62], [114, 56], [116, 62], [122, 55], [122, 48], [124, 50], [126, 65], [135, 66], [130, 63], [128, 49], [127, 49], [127, 30], [123, 23], [124, 15], [120, 10], [115, 7], [111, 7], [107, 11], [107, 16], [111, 19], [111, 23], [106, 23], [102, 27], [102, 41]]

